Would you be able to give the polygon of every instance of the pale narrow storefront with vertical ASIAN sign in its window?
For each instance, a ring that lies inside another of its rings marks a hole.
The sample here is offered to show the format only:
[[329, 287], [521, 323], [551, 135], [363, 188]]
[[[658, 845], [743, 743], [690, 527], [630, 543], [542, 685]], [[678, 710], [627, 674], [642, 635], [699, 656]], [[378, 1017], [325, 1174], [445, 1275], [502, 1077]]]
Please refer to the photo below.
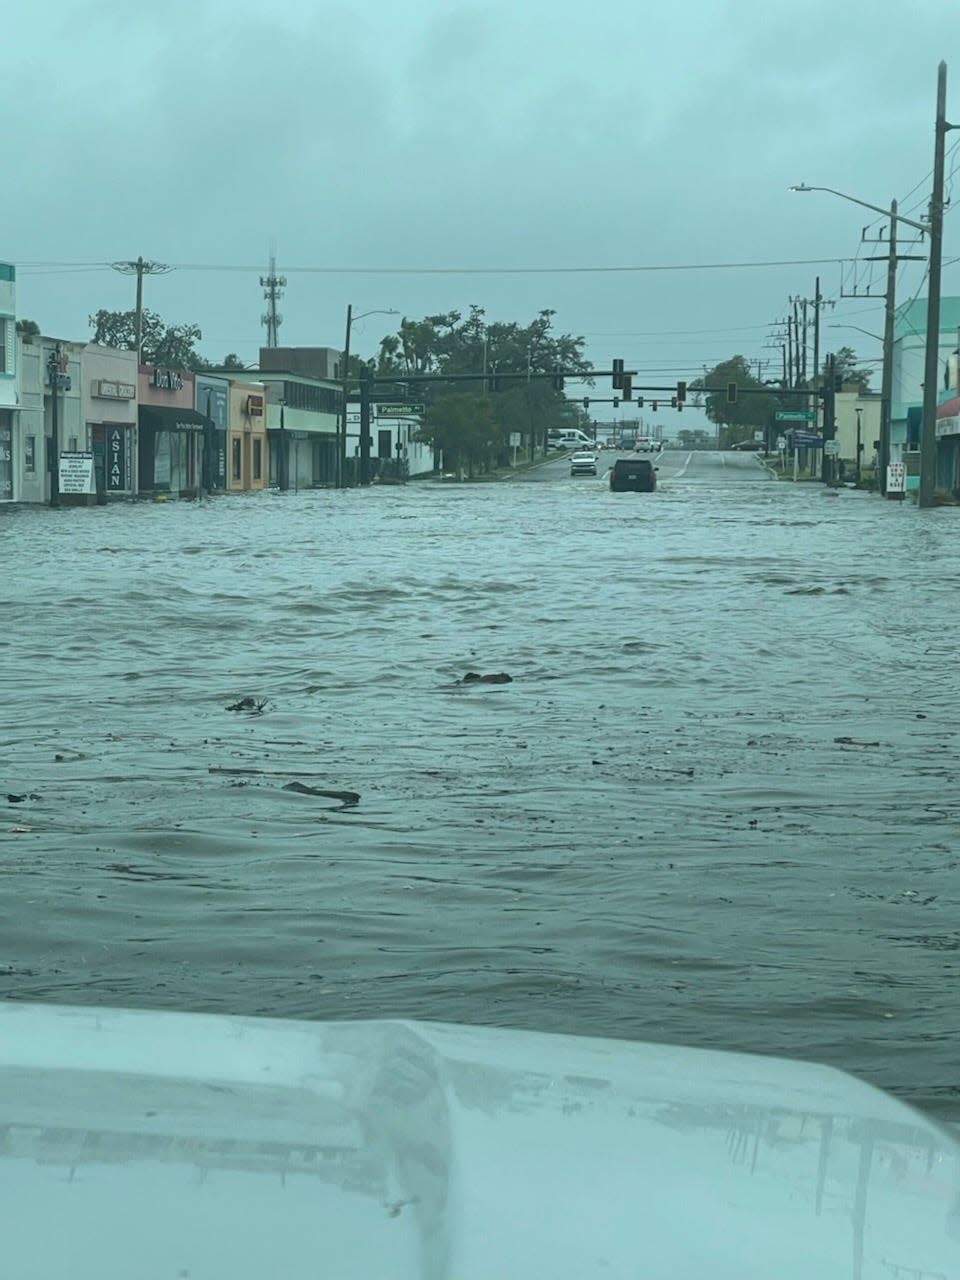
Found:
[[83, 448], [100, 502], [137, 493], [137, 353], [87, 343], [81, 353]]

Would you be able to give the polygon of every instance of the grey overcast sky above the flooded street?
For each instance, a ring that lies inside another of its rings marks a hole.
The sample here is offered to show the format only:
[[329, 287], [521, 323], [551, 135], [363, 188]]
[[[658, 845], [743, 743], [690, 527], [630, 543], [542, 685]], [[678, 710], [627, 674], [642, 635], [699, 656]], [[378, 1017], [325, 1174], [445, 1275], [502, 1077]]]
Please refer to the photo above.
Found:
[[[198, 324], [210, 358], [253, 362], [275, 242], [282, 344], [342, 346], [347, 303], [479, 303], [521, 323], [553, 307], [595, 364], [622, 356], [639, 381], [735, 353], [773, 376], [774, 321], [819, 274], [836, 300], [822, 348], [876, 358], [867, 334], [829, 328], [881, 332], [879, 297], [841, 289], [882, 293], [883, 265], [837, 264], [883, 252], [860, 243], [872, 215], [787, 188], [925, 211], [956, 17], [955, 0], [8, 6], [0, 259], [18, 265], [19, 314], [78, 339], [99, 307], [133, 306], [133, 280], [56, 264], [177, 266], [145, 305]], [[960, 119], [960, 59], [950, 76]], [[948, 214], [947, 264], [955, 227]], [[824, 261], [705, 269], [792, 260]], [[923, 264], [904, 264], [899, 301], [922, 288]], [[358, 321], [355, 349], [393, 326]]]

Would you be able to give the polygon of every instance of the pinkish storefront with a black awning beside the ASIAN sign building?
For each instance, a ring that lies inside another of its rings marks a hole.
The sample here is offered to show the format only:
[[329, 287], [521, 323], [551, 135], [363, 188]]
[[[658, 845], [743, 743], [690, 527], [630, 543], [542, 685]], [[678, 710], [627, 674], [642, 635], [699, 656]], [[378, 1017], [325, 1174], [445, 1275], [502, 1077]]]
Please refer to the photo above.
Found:
[[195, 375], [141, 365], [138, 381], [140, 493], [198, 497], [209, 420], [193, 407]]

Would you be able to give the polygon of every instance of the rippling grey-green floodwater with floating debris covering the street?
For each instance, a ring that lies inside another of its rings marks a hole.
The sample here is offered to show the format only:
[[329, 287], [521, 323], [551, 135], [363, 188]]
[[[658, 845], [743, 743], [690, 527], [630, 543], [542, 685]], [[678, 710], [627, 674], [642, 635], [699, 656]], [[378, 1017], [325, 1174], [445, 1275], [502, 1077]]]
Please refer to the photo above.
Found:
[[0, 511], [0, 997], [760, 1051], [959, 1119], [960, 511], [692, 461]]

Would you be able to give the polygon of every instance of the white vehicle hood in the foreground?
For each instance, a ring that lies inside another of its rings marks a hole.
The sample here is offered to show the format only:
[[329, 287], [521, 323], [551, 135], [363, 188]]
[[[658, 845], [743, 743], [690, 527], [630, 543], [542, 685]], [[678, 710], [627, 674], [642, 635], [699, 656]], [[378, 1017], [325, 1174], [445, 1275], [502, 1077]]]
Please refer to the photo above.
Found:
[[955, 1280], [959, 1169], [805, 1064], [0, 1005], [17, 1280]]

